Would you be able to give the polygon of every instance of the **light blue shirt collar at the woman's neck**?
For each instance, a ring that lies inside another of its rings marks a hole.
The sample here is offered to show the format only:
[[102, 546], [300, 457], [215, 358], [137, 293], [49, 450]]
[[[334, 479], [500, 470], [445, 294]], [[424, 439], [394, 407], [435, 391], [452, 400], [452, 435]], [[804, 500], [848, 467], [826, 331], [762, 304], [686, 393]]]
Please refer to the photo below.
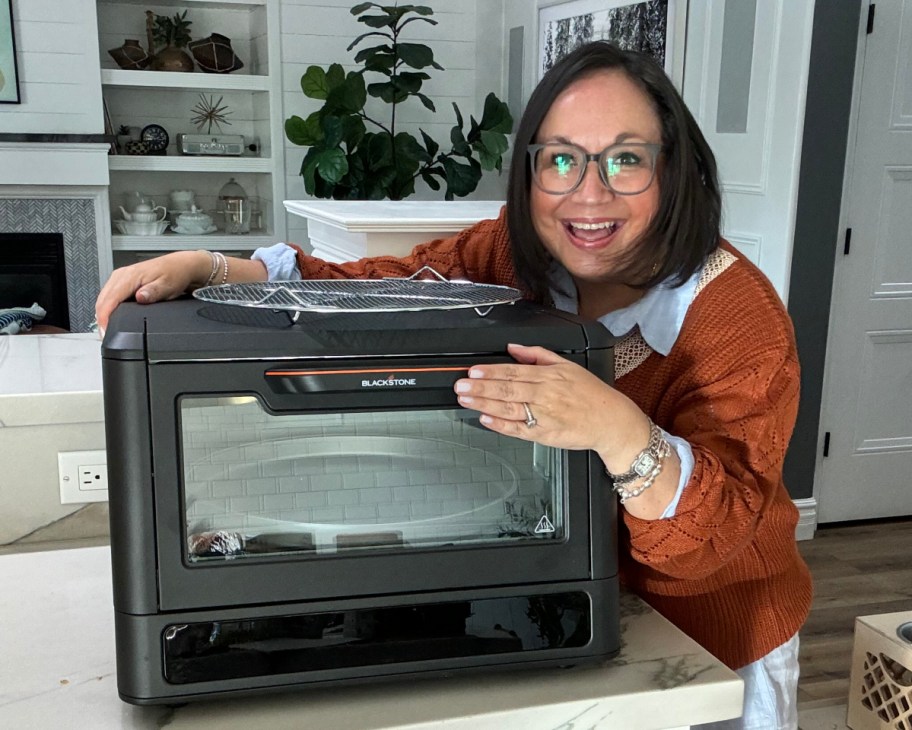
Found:
[[[554, 306], [563, 312], [576, 314], [579, 305], [576, 286], [570, 273], [556, 262], [550, 273]], [[681, 333], [684, 316], [693, 301], [701, 273], [702, 268], [678, 287], [670, 286], [666, 279], [630, 306], [609, 312], [599, 317], [598, 321], [615, 337], [639, 327], [646, 344], [656, 352], [667, 355]], [[566, 293], [561, 293], [561, 290]]]

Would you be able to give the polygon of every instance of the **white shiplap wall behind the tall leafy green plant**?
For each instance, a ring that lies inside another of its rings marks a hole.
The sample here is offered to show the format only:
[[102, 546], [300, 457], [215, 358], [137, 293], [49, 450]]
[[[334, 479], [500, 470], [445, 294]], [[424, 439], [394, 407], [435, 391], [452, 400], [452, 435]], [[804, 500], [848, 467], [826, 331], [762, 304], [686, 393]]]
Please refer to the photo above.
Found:
[[[320, 107], [320, 102], [308, 99], [301, 91], [301, 76], [308, 66], [319, 65], [325, 68], [330, 63], [340, 63], [346, 71], [356, 70], [355, 54], [362, 47], [373, 45], [373, 39], [369, 38], [352, 51], [346, 50], [354, 38], [370, 30], [349, 12], [354, 4], [354, 0], [282, 0], [282, 88], [286, 118], [292, 114], [306, 118]], [[450, 127], [456, 121], [453, 102], [459, 106], [468, 124], [470, 115], [480, 118], [488, 91], [494, 91], [498, 97], [505, 99], [501, 65], [480, 63], [480, 41], [476, 37], [479, 13], [484, 12], [487, 21], [502, 25], [501, 12], [491, 10], [491, 6], [500, 8], [501, 3], [485, 3], [484, 0], [424, 0], [420, 4], [433, 8], [432, 19], [437, 21], [437, 25], [411, 23], [404, 31], [403, 40], [430, 45], [435, 60], [445, 70], [427, 69], [431, 79], [422, 88], [434, 101], [437, 113], [432, 114], [419, 102], [410, 101], [401, 105], [397, 112], [397, 128], [417, 133], [420, 126], [443, 146], [448, 142]], [[503, 33], [497, 27], [491, 35], [500, 39]], [[484, 55], [487, 61], [490, 49]], [[500, 51], [494, 55], [499, 59]], [[387, 113], [379, 109], [377, 118], [386, 121]], [[304, 183], [298, 174], [305, 153], [306, 148], [286, 143], [286, 198], [290, 200], [306, 197]], [[483, 180], [482, 186], [472, 197], [503, 196], [505, 180], [493, 175], [489, 177], [492, 180]], [[439, 199], [441, 193], [434, 193], [422, 185], [417, 188], [415, 197]], [[290, 241], [306, 242], [305, 231], [303, 219], [289, 217]]]

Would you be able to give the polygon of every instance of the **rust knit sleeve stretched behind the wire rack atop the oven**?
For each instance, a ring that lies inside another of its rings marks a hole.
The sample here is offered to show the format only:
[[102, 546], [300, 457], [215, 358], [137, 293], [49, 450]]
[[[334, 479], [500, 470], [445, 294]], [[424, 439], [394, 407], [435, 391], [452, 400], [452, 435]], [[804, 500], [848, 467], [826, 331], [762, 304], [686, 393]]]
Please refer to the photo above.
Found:
[[305, 279], [407, 277], [430, 266], [447, 279], [515, 286], [504, 209], [495, 220], [483, 220], [449, 238], [419, 244], [401, 258], [375, 256], [334, 264], [295, 248]]

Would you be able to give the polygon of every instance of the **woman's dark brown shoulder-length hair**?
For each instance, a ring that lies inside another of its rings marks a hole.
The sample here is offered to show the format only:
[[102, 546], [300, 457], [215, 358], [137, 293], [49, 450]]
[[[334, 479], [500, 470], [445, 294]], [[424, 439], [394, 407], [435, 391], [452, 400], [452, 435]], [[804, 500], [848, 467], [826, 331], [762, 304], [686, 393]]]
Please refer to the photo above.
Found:
[[539, 301], [548, 298], [552, 262], [532, 223], [532, 172], [526, 150], [535, 142], [555, 99], [570, 84], [609, 69], [623, 72], [643, 90], [662, 129], [662, 152], [656, 169], [659, 207], [640, 245], [622, 260], [619, 277], [642, 288], [669, 277], [672, 284], [683, 284], [719, 243], [722, 203], [716, 160], [674, 84], [646, 54], [623, 51], [605, 41], [588, 43], [545, 74], [516, 130], [507, 184], [507, 224], [517, 276], [528, 294]]

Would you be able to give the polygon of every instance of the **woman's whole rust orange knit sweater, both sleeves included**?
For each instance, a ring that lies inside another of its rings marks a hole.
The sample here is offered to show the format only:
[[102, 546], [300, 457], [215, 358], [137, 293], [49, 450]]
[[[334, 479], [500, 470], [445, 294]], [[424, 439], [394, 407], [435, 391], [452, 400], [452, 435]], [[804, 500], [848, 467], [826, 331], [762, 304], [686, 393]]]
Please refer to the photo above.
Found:
[[[694, 470], [675, 516], [623, 512], [621, 580], [732, 668], [799, 629], [810, 574], [798, 554], [798, 514], [782, 463], [798, 409], [791, 322], [763, 274], [737, 260], [691, 304], [671, 352], [651, 353], [615, 383], [659, 426], [686, 439]], [[516, 286], [503, 211], [404, 258], [328, 264], [299, 252], [305, 278], [408, 276]]]

